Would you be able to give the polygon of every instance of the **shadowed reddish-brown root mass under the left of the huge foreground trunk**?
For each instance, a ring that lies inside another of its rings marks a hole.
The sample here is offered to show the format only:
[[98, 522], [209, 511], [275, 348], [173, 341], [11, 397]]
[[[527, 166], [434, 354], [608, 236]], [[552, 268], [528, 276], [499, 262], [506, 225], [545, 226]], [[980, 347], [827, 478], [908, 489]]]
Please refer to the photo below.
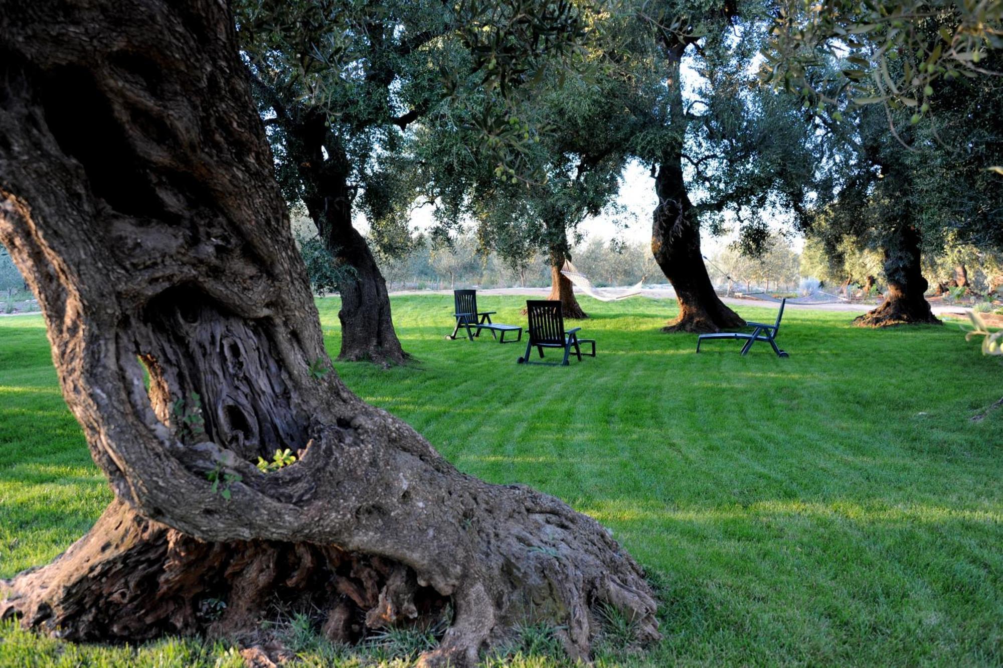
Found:
[[250, 645], [264, 642], [260, 623], [275, 607], [326, 611], [318, 623], [328, 639], [354, 642], [385, 626], [429, 627], [448, 604], [385, 559], [305, 543], [206, 543], [118, 500], [54, 562], [0, 582], [0, 618], [78, 642], [199, 634]]

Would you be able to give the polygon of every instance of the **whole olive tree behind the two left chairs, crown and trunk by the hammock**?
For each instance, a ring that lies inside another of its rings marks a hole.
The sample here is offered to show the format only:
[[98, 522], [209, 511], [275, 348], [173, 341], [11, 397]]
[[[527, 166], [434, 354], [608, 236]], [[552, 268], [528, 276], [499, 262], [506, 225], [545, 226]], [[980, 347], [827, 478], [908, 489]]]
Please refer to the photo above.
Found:
[[[618, 192], [634, 121], [625, 102], [631, 83], [616, 70], [604, 78], [559, 83], [553, 78], [550, 93], [526, 100], [520, 108], [526, 118], [510, 118], [511, 125], [532, 137], [522, 159], [533, 178], [487, 169], [491, 165], [471, 145], [475, 135], [461, 129], [472, 120], [461, 116], [427, 118], [412, 150], [427, 172], [425, 198], [437, 204], [443, 225], [472, 221], [483, 249], [515, 267], [531, 254], [546, 254], [550, 299], [562, 302], [566, 318], [584, 318], [573, 284], [561, 270], [571, 259], [579, 225], [603, 211]], [[534, 134], [531, 126], [550, 129]]]

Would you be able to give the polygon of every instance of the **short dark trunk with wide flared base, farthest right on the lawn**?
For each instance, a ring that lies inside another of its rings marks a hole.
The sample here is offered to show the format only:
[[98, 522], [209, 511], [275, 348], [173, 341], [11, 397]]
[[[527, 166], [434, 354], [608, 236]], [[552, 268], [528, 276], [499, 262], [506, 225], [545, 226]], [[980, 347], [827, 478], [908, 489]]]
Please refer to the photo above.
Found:
[[920, 323], [940, 324], [924, 294], [930, 284], [923, 278], [920, 263], [920, 236], [912, 227], [896, 231], [885, 248], [885, 277], [888, 291], [878, 308], [858, 316], [861, 327], [888, 327]]

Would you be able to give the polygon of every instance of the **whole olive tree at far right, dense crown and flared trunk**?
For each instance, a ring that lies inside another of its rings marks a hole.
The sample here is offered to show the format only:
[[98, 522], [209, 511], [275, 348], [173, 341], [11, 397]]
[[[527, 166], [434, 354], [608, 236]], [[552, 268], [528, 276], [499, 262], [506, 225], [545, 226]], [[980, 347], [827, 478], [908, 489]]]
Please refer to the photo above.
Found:
[[[998, 50], [985, 56], [987, 66], [999, 62]], [[1003, 86], [993, 77], [945, 77], [938, 90], [924, 122], [894, 104], [816, 113], [837, 186], [832, 204], [805, 219], [807, 233], [837, 256], [848, 237], [884, 256], [885, 301], [858, 324], [938, 322], [924, 297], [923, 256], [941, 255], [949, 240], [1003, 243], [1003, 177], [994, 169], [1003, 162], [1003, 132], [991, 119]]]

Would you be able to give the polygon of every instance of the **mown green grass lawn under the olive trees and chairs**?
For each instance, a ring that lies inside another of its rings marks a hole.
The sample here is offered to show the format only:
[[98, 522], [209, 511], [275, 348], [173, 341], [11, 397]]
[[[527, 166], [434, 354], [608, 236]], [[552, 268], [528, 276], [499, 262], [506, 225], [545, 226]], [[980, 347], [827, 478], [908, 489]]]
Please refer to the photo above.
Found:
[[[525, 321], [520, 298], [480, 301]], [[394, 299], [415, 364], [336, 367], [459, 468], [564, 498], [654, 574], [664, 641], [601, 663], [1003, 665], [1003, 409], [971, 421], [1003, 394], [1003, 366], [956, 324], [876, 331], [788, 309], [789, 359], [724, 341], [695, 355], [694, 336], [658, 331], [674, 303], [582, 304], [599, 356], [570, 367], [517, 365], [522, 344], [489, 337], [444, 340], [451, 296]], [[336, 353], [338, 302], [319, 307]], [[0, 319], [0, 577], [50, 560], [109, 499], [41, 319]], [[382, 656], [321, 645], [304, 660]], [[225, 644], [80, 648], [8, 625], [0, 664], [240, 662]]]

